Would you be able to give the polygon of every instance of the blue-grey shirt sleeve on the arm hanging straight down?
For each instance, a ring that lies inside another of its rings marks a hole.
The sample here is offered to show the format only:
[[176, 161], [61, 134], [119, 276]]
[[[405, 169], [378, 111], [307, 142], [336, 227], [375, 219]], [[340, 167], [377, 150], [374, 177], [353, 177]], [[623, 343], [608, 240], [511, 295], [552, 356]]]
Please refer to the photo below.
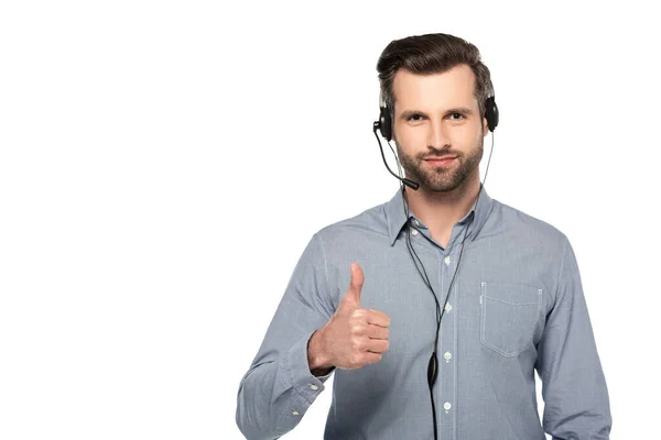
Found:
[[553, 440], [607, 440], [611, 416], [576, 256], [565, 237], [555, 301], [546, 315], [535, 367], [544, 431]]

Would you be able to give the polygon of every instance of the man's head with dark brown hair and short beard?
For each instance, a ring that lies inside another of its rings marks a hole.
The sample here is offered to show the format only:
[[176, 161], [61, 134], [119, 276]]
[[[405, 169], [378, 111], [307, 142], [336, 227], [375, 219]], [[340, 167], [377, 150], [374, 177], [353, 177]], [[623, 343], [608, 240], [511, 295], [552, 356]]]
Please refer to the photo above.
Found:
[[[494, 89], [477, 47], [447, 34], [410, 36], [383, 50], [377, 70], [407, 177], [441, 193], [479, 182], [485, 102]], [[429, 161], [441, 156], [456, 158]]]

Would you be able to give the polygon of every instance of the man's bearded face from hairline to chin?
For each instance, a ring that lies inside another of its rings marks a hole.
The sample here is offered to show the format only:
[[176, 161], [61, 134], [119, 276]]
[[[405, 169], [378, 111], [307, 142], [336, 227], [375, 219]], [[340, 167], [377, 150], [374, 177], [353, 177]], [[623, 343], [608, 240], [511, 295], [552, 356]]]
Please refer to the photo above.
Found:
[[[407, 177], [420, 186], [448, 193], [477, 174], [487, 134], [474, 96], [470, 67], [443, 74], [399, 70], [393, 80], [394, 141]], [[449, 161], [432, 161], [451, 156]]]

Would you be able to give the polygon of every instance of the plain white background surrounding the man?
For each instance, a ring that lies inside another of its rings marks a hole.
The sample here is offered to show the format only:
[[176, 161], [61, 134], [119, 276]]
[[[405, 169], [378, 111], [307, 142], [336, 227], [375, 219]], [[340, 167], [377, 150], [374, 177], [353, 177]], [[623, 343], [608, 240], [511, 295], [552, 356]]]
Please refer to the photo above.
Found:
[[[221, 3], [0, 7], [0, 438], [240, 439], [239, 381], [305, 244], [398, 187], [376, 63], [427, 32], [491, 70], [490, 196], [574, 246], [613, 438], [655, 435], [651, 7]], [[321, 439], [329, 402], [285, 437]]]

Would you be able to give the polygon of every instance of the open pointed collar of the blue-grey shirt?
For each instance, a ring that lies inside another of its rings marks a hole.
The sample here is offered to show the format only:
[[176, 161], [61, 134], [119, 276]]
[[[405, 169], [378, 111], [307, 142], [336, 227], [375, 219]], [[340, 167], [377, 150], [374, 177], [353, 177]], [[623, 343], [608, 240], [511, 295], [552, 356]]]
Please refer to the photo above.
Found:
[[[479, 230], [487, 221], [487, 217], [489, 217], [489, 212], [491, 212], [491, 207], [494, 205], [494, 200], [487, 194], [487, 189], [480, 185], [481, 191], [479, 197], [477, 198], [477, 207], [476, 204], [473, 204], [470, 211], [458, 221], [458, 224], [466, 223], [470, 216], [475, 213], [475, 219], [470, 224], [470, 229], [467, 232], [466, 240], [475, 240]], [[386, 216], [388, 221], [388, 237], [390, 238], [390, 245], [393, 245], [397, 238], [399, 237], [402, 228], [407, 223], [407, 216], [404, 213], [404, 198], [403, 198], [404, 188], [398, 188], [394, 196], [386, 204]], [[409, 210], [409, 219], [413, 219], [413, 212]]]

